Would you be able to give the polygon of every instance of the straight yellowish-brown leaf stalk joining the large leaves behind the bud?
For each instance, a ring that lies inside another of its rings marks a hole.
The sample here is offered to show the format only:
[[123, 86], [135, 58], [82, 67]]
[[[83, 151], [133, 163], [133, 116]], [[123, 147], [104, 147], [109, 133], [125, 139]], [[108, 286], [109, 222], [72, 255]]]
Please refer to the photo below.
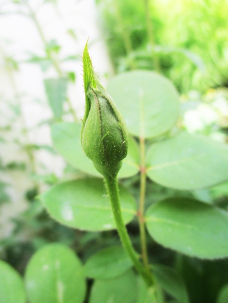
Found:
[[142, 259], [144, 266], [148, 268], [148, 255], [147, 255], [147, 239], [146, 229], [144, 220], [144, 208], [145, 208], [145, 192], [146, 192], [146, 164], [145, 164], [145, 138], [140, 136], [140, 198], [139, 198], [139, 230], [140, 230], [140, 241], [142, 250]]

